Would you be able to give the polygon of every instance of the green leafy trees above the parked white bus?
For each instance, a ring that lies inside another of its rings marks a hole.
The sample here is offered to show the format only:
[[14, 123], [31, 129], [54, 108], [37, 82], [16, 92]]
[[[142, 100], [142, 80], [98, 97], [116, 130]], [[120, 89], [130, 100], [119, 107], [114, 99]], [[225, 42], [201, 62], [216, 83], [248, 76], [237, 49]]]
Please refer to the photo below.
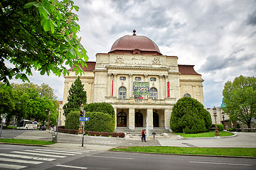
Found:
[[[33, 85], [35, 84], [30, 84], [30, 86]], [[28, 84], [24, 86], [28, 86]], [[57, 108], [57, 101], [47, 96], [39, 96], [36, 89], [26, 88], [22, 91], [7, 86], [0, 88], [0, 113], [7, 113], [6, 125], [9, 125], [14, 116], [17, 120], [32, 120], [34, 118], [44, 124], [48, 120], [49, 111], [51, 111], [50, 122], [55, 124], [55, 120], [58, 118]]]

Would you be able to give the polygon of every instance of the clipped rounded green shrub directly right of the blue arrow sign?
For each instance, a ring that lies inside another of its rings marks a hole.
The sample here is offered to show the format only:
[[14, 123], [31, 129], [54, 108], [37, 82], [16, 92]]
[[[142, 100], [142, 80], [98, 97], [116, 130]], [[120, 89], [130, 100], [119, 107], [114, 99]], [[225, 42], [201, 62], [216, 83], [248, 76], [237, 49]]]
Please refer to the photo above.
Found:
[[114, 122], [110, 114], [86, 112], [86, 117], [89, 118], [89, 121], [85, 122], [85, 130], [94, 132], [114, 132]]

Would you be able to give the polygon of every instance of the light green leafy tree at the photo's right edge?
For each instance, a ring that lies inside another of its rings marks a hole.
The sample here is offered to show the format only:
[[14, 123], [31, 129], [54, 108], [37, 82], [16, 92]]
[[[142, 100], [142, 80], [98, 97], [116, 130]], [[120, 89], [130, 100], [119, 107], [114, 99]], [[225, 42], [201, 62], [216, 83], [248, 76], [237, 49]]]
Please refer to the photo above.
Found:
[[250, 128], [252, 118], [256, 118], [256, 78], [235, 77], [227, 81], [223, 89], [223, 111], [230, 120], [239, 120]]

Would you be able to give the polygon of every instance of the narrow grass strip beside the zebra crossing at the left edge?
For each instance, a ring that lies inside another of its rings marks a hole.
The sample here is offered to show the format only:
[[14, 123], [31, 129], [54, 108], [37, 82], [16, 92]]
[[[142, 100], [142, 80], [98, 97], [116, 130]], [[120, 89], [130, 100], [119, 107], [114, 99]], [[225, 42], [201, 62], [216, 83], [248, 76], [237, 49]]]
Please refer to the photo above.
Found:
[[44, 140], [0, 139], [0, 142], [16, 143], [16, 144], [27, 144], [27, 145], [51, 145], [51, 144], [54, 144], [54, 142], [52, 142], [52, 141], [44, 141]]

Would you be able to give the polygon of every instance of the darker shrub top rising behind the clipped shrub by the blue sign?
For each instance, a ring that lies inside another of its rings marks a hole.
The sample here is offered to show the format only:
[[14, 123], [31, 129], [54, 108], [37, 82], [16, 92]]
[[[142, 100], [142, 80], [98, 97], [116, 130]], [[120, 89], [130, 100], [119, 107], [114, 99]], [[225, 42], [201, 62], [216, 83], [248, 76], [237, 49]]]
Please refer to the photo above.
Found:
[[109, 103], [90, 103], [85, 106], [85, 111], [107, 113], [114, 118], [114, 108]]

